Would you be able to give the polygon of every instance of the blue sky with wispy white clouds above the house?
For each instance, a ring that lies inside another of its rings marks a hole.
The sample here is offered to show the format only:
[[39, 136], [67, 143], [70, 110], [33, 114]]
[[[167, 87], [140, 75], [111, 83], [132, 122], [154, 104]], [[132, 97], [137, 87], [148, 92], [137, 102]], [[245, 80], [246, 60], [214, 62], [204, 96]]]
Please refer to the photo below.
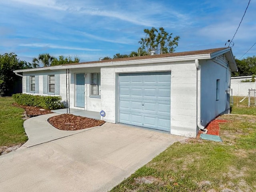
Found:
[[[31, 62], [38, 54], [78, 56], [80, 62], [129, 54], [145, 28], [179, 35], [176, 52], [224, 47], [248, 0], [2, 0], [0, 54]], [[256, 0], [233, 40], [242, 56], [256, 42]], [[244, 57], [256, 55], [254, 46]]]

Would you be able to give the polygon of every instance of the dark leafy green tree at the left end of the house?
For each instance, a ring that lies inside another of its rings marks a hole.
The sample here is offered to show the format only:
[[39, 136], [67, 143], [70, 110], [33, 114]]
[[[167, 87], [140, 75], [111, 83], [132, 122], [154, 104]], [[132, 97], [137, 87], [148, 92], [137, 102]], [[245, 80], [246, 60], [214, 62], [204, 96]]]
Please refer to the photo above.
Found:
[[20, 80], [13, 71], [29, 67], [27, 62], [20, 61], [14, 53], [0, 54], [0, 96], [12, 94], [15, 82]]

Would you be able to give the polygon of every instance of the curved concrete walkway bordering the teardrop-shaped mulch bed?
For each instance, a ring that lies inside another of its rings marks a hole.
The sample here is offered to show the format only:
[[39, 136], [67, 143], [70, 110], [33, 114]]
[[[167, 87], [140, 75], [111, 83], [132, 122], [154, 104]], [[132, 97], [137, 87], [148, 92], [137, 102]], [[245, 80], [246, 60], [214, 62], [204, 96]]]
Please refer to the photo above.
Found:
[[91, 129], [89, 128], [89, 129], [82, 129], [77, 131], [64, 131], [64, 130], [56, 129], [47, 121], [48, 118], [56, 115], [59, 115], [59, 114], [52, 113], [52, 114], [40, 115], [40, 116], [29, 118], [26, 121], [24, 121], [23, 126], [28, 136], [28, 141], [24, 143], [17, 150], [39, 145], [39, 144], [46, 143], [59, 138], [64, 138], [64, 137]]

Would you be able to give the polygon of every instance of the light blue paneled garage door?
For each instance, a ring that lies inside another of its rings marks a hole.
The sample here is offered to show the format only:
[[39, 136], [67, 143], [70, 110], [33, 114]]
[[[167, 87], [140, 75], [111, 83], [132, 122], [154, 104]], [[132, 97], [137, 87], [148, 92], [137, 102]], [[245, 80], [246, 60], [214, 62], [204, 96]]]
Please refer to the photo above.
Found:
[[119, 74], [119, 122], [170, 132], [171, 73]]

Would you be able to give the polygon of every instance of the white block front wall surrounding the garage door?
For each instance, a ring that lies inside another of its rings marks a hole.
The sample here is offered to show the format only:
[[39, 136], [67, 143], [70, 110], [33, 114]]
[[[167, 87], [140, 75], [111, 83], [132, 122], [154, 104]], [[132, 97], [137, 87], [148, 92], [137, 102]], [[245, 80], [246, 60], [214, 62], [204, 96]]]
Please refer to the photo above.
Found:
[[196, 136], [196, 67], [194, 62], [101, 68], [101, 108], [104, 120], [118, 122], [118, 74], [171, 71], [171, 134]]

